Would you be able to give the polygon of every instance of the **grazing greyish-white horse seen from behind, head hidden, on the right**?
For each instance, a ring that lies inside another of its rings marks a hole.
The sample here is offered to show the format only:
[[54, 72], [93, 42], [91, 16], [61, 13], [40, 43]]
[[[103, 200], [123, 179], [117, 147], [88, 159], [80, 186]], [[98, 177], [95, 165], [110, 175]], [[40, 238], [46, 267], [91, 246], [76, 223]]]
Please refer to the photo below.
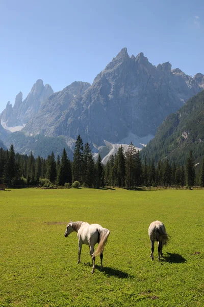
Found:
[[151, 241], [151, 254], [150, 257], [154, 260], [154, 246], [155, 241], [158, 242], [158, 258], [160, 260], [160, 255], [163, 257], [162, 248], [165, 244], [167, 244], [169, 238], [166, 232], [165, 226], [160, 221], [152, 222], [149, 225], [149, 238]]

